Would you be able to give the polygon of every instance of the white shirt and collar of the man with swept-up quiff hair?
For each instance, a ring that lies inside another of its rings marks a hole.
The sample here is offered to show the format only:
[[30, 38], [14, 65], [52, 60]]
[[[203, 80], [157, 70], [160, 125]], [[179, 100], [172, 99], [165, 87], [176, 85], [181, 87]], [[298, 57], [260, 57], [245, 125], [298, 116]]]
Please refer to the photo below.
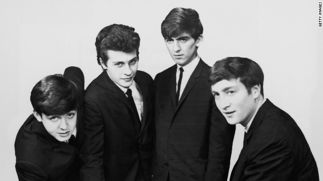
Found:
[[[125, 88], [123, 86], [120, 86], [119, 84], [116, 83], [116, 85], [125, 93], [126, 95], [126, 92], [127, 92], [127, 89], [128, 88]], [[131, 89], [132, 91], [132, 98], [133, 98], [133, 101], [135, 102], [135, 105], [136, 105], [136, 108], [137, 108], [137, 112], [138, 112], [138, 115], [139, 115], [139, 119], [140, 119], [140, 122], [142, 120], [142, 117], [143, 117], [143, 97], [142, 97], [142, 94], [141, 94], [141, 91], [140, 91], [140, 88], [138, 86], [138, 84], [134, 81], [132, 81], [132, 84], [129, 86], [129, 88]], [[126, 95], [126, 97], [128, 98], [128, 96]]]

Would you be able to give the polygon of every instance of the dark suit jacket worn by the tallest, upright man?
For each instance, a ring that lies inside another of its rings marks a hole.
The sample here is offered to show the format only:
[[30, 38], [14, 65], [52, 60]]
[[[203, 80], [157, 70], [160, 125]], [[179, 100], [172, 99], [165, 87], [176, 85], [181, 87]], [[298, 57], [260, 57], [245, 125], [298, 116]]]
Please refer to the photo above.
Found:
[[227, 180], [235, 126], [218, 110], [201, 59], [176, 105], [177, 65], [156, 75], [153, 180]]

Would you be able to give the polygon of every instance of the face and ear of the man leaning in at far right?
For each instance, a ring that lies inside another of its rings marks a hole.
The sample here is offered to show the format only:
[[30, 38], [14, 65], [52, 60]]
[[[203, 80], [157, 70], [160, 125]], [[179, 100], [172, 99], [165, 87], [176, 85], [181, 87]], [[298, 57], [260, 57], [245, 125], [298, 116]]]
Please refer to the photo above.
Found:
[[260, 95], [258, 85], [248, 94], [239, 79], [221, 80], [211, 86], [217, 107], [231, 125], [246, 126], [257, 109], [256, 98]]

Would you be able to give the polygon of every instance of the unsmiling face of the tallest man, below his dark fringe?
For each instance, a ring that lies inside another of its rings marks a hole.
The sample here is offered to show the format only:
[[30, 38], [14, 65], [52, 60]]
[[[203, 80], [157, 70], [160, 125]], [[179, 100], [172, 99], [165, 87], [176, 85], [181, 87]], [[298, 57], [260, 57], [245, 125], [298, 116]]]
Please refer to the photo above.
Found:
[[165, 38], [168, 51], [173, 60], [180, 66], [187, 65], [197, 56], [197, 47], [202, 41], [202, 35], [195, 41], [191, 35], [187, 33], [175, 38]]

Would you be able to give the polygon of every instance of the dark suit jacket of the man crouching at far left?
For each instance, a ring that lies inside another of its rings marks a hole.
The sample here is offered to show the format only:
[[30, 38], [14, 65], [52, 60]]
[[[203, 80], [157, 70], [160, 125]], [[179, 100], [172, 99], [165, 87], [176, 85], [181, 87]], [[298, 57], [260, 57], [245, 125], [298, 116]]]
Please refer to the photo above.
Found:
[[[68, 67], [64, 77], [73, 81], [82, 97], [84, 92], [84, 75], [77, 67]], [[79, 110], [77, 119], [79, 120]], [[79, 180], [78, 150], [76, 142], [60, 142], [52, 137], [30, 115], [18, 131], [15, 141], [16, 171], [20, 181], [29, 180]]]

